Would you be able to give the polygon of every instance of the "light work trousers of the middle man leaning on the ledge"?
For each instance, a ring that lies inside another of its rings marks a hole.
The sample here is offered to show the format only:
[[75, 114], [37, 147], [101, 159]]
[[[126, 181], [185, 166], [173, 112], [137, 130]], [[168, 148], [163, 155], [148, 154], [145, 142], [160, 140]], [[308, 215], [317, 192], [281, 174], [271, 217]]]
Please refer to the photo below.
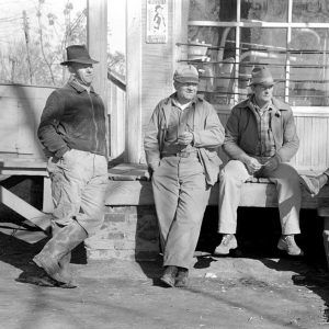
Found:
[[209, 197], [209, 188], [196, 155], [162, 158], [152, 175], [152, 189], [163, 265], [189, 269]]

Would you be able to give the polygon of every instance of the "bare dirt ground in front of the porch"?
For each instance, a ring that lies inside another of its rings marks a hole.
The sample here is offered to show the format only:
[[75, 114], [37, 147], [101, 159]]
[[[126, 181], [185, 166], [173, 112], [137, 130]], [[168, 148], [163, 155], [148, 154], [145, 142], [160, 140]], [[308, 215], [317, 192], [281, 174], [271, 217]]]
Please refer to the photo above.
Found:
[[71, 265], [79, 287], [42, 287], [20, 281], [43, 236], [21, 225], [13, 228], [12, 223], [1, 224], [3, 329], [329, 326], [329, 280], [307, 258], [203, 254], [195, 259], [188, 288], [166, 288], [159, 282], [160, 259], [86, 263], [80, 246]]

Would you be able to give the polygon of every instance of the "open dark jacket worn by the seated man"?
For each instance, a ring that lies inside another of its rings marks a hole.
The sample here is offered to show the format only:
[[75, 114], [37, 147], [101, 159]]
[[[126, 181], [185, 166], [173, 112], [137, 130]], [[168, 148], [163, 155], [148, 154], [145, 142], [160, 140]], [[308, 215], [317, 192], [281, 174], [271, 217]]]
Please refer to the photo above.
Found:
[[[299, 139], [292, 109], [288, 104], [272, 99], [273, 115], [270, 126], [272, 128], [276, 157], [286, 162], [297, 152]], [[246, 154], [256, 154], [259, 140], [259, 132], [256, 112], [251, 100], [237, 104], [229, 115], [225, 129], [225, 143], [223, 149], [231, 159], [241, 159]]]

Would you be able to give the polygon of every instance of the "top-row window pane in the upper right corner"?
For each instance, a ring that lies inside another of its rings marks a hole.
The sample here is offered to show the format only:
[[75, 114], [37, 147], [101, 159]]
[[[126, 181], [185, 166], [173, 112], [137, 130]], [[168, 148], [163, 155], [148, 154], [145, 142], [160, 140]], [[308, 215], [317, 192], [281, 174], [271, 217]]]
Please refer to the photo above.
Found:
[[293, 22], [329, 23], [329, 0], [294, 0]]

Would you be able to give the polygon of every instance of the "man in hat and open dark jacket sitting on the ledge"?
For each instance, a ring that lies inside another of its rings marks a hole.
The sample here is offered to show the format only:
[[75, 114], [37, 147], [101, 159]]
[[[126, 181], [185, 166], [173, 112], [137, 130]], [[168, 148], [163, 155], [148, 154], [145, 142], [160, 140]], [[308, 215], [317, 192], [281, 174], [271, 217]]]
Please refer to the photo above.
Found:
[[249, 178], [268, 178], [275, 184], [282, 236], [277, 248], [302, 256], [294, 236], [300, 232], [300, 184], [287, 161], [297, 152], [299, 140], [291, 107], [273, 98], [274, 81], [265, 66], [251, 72], [252, 94], [237, 104], [225, 129], [224, 151], [230, 160], [219, 174], [218, 232], [223, 235], [214, 254], [228, 254], [238, 243], [237, 208], [242, 183]]

